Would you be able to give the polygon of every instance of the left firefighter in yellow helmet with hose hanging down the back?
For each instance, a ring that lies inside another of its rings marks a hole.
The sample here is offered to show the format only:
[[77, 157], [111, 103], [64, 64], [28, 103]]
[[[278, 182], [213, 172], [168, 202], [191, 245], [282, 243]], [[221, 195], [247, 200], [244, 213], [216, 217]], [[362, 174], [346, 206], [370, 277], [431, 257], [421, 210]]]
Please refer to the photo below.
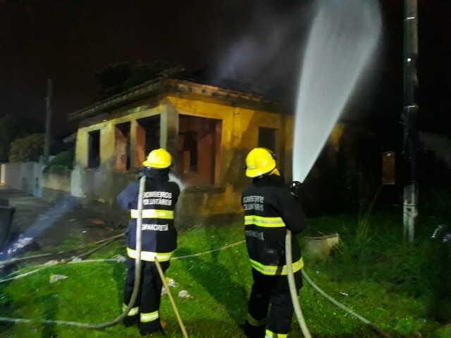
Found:
[[[140, 292], [123, 324], [131, 326], [139, 321], [140, 333], [144, 336], [163, 331], [159, 307], [163, 283], [154, 263], [155, 257], [161, 268], [169, 267], [169, 260], [177, 247], [177, 232], [174, 227], [174, 208], [180, 195], [180, 187], [169, 181], [171, 154], [165, 149], [151, 151], [142, 163], [144, 170], [139, 177], [146, 176], [142, 211], [142, 271]], [[131, 182], [118, 195], [118, 204], [130, 210], [127, 237], [127, 277], [124, 289], [124, 308], [130, 302], [135, 284], [136, 220], [139, 199], [139, 180]]]

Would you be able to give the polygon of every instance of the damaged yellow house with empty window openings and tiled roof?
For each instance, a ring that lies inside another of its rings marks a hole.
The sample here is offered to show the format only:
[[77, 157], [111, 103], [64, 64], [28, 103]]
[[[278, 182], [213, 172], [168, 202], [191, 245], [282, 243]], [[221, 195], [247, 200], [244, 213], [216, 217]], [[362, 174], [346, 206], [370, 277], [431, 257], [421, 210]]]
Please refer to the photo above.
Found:
[[161, 76], [69, 115], [78, 122], [71, 192], [114, 204], [153, 149], [173, 156], [178, 215], [240, 213], [247, 152], [276, 151], [291, 173], [292, 115], [261, 96]]

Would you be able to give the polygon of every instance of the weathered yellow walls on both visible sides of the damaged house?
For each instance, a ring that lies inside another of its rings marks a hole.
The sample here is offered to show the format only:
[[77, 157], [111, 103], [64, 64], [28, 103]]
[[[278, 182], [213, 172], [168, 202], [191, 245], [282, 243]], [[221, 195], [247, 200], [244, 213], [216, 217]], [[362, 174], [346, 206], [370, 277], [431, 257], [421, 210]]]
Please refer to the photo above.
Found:
[[[115, 125], [118, 123], [130, 122], [130, 125], [136, 125], [135, 120], [147, 118], [152, 115], [159, 115], [166, 111], [168, 105], [174, 108], [178, 114], [199, 116], [202, 118], [213, 118], [222, 121], [221, 132], [221, 163], [219, 187], [205, 187], [202, 192], [196, 189], [186, 189], [181, 196], [180, 212], [183, 215], [214, 215], [226, 213], [241, 213], [242, 208], [240, 199], [242, 189], [250, 183], [245, 177], [243, 165], [247, 152], [257, 146], [259, 138], [259, 127], [270, 127], [278, 130], [276, 132], [276, 145], [278, 151], [286, 151], [285, 172], [290, 173], [291, 153], [292, 153], [292, 117], [286, 116], [285, 119], [278, 113], [269, 113], [261, 110], [250, 108], [241, 108], [233, 106], [230, 103], [221, 101], [201, 101], [198, 98], [179, 97], [177, 95], [168, 95], [160, 101], [160, 104], [154, 108], [141, 110], [140, 107], [130, 108], [128, 111], [117, 111], [112, 113], [111, 120], [104, 120], [100, 123], [89, 125], [89, 127], [80, 127], [77, 135], [76, 144], [76, 163], [82, 171], [87, 167], [88, 157], [88, 132], [93, 130], [101, 130], [101, 168], [113, 171], [114, 156], [114, 132]], [[115, 118], [115, 116], [118, 116]], [[285, 128], [281, 125], [281, 121], [286, 121]], [[281, 133], [285, 130], [285, 135]], [[130, 133], [131, 146], [135, 146], [133, 141], [135, 131], [132, 128]], [[133, 154], [135, 149], [130, 149]], [[133, 163], [133, 162], [132, 162]], [[86, 180], [88, 180], [86, 175]], [[89, 174], [91, 175], [91, 174]], [[89, 176], [89, 180], [94, 180], [95, 176]], [[94, 177], [94, 178], [93, 178]], [[116, 176], [111, 176], [111, 179]], [[104, 182], [104, 184], [113, 184], [113, 182]], [[125, 184], [123, 181], [121, 184]], [[90, 184], [83, 184], [89, 187]], [[89, 188], [86, 188], [89, 189]], [[101, 189], [102, 192], [96, 194], [113, 194], [111, 189]], [[106, 201], [113, 201], [114, 196], [97, 196]]]

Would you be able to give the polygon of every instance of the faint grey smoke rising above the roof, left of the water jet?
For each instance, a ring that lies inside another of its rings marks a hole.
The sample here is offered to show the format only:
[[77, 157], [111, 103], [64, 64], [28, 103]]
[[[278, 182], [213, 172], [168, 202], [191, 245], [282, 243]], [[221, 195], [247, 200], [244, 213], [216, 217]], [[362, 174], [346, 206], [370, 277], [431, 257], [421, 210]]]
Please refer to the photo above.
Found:
[[302, 41], [302, 27], [307, 27], [308, 2], [290, 8], [259, 2], [247, 27], [218, 57], [216, 80], [238, 80], [252, 85], [251, 90], [265, 91], [292, 73], [292, 68], [297, 69], [295, 54]]

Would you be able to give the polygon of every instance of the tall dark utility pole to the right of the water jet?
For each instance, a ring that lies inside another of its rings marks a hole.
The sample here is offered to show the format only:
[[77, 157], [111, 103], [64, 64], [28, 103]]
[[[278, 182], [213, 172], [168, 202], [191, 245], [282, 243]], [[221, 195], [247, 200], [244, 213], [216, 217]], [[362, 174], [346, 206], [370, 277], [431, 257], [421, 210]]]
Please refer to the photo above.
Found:
[[416, 148], [418, 130], [416, 127], [416, 88], [418, 77], [418, 4], [417, 0], [404, 0], [404, 107], [402, 124], [404, 140], [402, 154], [404, 158], [404, 204], [403, 223], [404, 240], [414, 242], [416, 215], [418, 214], [418, 186], [416, 183]]

